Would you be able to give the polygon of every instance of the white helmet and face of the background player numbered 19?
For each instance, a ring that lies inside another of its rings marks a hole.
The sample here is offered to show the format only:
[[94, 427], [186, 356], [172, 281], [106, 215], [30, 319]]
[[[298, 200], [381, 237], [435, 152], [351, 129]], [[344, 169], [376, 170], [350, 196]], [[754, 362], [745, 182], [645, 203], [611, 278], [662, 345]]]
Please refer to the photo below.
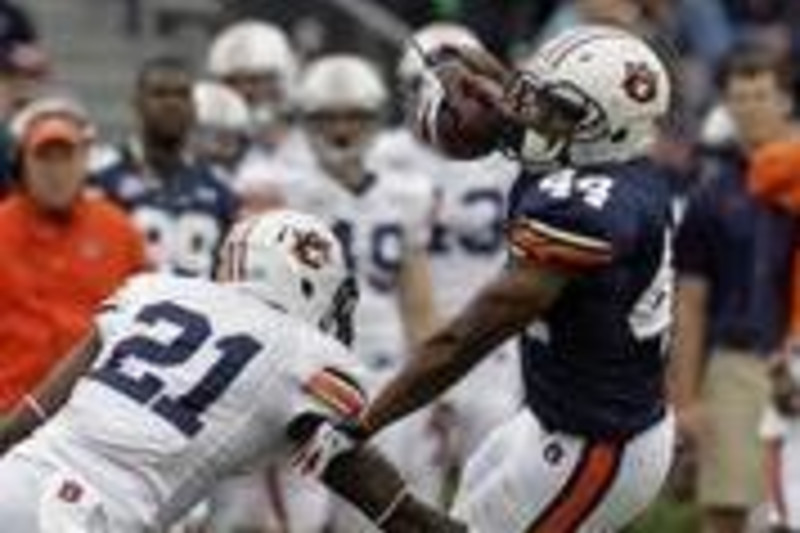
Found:
[[323, 166], [357, 163], [375, 139], [387, 90], [378, 71], [356, 55], [318, 59], [302, 76], [297, 105]]

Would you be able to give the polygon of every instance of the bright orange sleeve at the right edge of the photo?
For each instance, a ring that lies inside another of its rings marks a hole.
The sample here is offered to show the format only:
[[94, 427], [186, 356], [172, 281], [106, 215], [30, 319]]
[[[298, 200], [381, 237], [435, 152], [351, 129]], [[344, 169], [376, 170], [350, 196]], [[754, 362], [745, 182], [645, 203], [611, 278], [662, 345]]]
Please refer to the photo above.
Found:
[[792, 213], [800, 212], [800, 142], [780, 141], [758, 149], [751, 159], [747, 181], [757, 198]]

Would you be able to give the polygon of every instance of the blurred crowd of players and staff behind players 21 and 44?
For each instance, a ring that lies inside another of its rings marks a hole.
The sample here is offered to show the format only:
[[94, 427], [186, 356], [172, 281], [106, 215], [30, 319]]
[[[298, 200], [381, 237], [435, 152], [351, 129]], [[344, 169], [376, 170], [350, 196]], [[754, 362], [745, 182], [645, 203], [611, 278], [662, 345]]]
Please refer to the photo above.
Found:
[[[583, 23], [631, 28], [671, 59], [678, 98], [654, 155], [682, 220], [669, 383], [680, 447], [636, 530], [758, 531], [776, 483], [780, 432], [762, 415], [793, 332], [795, 224], [748, 179], [755, 150], [798, 133], [792, 0], [0, 0], [0, 416], [127, 275], [208, 276], [231, 221], [281, 204], [350, 241], [375, 293], [357, 351], [391, 373], [502, 264], [518, 170], [499, 156], [445, 162], [405, 131], [402, 93], [419, 75], [402, 67], [408, 37], [445, 22], [513, 65]], [[351, 83], [326, 78], [331, 54]], [[376, 173], [390, 183], [368, 194]], [[387, 439], [431, 499], [446, 504], [471, 440], [519, 401], [513, 351], [410, 422], [425, 438]], [[327, 498], [268, 469], [181, 527], [356, 530]]]

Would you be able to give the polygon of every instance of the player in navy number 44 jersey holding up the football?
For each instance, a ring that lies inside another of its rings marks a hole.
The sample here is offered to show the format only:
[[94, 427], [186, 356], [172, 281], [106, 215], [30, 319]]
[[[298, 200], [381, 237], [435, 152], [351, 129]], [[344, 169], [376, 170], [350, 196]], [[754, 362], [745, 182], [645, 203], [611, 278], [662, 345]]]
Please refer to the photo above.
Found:
[[[529, 168], [558, 165], [517, 179], [507, 267], [341, 431], [372, 435], [518, 335], [526, 405], [470, 458], [455, 515], [479, 533], [618, 530], [656, 496], [674, 440], [671, 198], [648, 158], [669, 108], [667, 68], [642, 40], [598, 26], [556, 36], [524, 74], [458, 50], [432, 62], [423, 138], [451, 154], [504, 144]], [[481, 138], [476, 100], [501, 127], [485, 147], [458, 146]]]

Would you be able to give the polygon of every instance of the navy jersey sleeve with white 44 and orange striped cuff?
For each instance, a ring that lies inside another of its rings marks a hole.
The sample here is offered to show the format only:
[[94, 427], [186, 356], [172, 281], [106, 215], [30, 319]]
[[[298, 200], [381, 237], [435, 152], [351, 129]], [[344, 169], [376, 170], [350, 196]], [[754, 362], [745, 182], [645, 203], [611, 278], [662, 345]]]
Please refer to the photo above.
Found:
[[608, 176], [538, 178], [516, 199], [507, 236], [512, 257], [580, 273], [606, 266], [633, 246], [637, 228]]

